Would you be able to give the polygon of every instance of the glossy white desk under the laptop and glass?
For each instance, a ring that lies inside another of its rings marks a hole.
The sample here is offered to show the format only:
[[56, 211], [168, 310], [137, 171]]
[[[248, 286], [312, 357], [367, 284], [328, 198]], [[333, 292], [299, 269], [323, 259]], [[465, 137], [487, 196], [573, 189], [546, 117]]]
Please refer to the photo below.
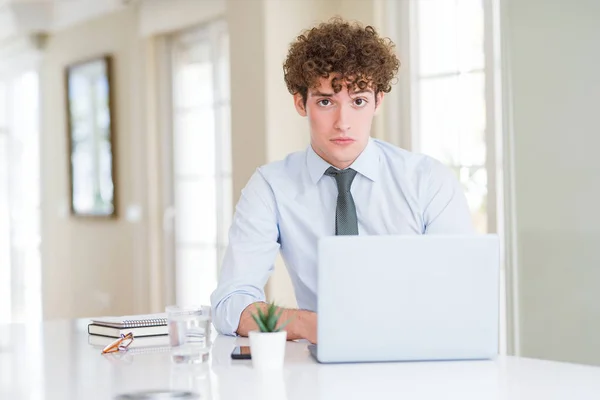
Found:
[[288, 342], [285, 367], [262, 376], [230, 359], [245, 338], [217, 337], [211, 359], [174, 365], [168, 352], [103, 356], [87, 320], [0, 325], [0, 399], [111, 399], [149, 389], [202, 399], [600, 399], [600, 368], [515, 357], [495, 361], [320, 365]]

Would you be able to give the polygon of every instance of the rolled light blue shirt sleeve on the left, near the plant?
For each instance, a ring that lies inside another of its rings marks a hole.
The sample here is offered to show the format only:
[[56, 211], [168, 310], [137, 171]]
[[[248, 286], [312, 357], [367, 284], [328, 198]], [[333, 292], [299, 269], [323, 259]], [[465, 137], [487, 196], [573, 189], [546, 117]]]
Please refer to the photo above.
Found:
[[219, 282], [211, 295], [213, 324], [219, 333], [235, 335], [242, 311], [265, 300], [264, 286], [274, 268], [278, 239], [275, 198], [258, 169], [237, 203]]

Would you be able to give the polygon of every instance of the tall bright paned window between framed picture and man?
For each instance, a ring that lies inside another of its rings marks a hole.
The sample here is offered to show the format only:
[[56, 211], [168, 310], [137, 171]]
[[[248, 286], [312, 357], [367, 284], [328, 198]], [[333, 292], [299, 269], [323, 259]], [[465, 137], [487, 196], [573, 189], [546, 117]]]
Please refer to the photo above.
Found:
[[178, 304], [210, 304], [231, 223], [228, 36], [224, 23], [172, 38], [172, 191]]

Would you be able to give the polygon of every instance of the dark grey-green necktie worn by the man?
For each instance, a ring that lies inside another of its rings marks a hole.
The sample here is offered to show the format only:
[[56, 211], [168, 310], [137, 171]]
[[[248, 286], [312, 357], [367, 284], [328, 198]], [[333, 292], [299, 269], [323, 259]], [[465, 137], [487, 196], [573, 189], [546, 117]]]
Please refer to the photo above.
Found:
[[333, 176], [338, 186], [338, 200], [335, 208], [335, 234], [336, 235], [358, 235], [358, 220], [356, 218], [356, 206], [350, 187], [356, 176], [353, 169], [337, 170], [329, 167], [325, 175]]

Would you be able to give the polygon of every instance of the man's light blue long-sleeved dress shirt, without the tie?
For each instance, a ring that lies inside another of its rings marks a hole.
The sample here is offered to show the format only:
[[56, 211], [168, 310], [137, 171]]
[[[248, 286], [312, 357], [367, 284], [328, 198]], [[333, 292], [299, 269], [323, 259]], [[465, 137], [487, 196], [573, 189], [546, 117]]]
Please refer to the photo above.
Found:
[[[229, 231], [213, 323], [234, 335], [242, 311], [265, 301], [264, 286], [278, 251], [298, 307], [317, 309], [317, 243], [335, 235], [337, 186], [323, 175], [331, 165], [311, 146], [262, 166], [242, 190]], [[370, 139], [349, 166], [358, 172], [351, 193], [359, 235], [473, 233], [460, 183], [440, 162]]]

